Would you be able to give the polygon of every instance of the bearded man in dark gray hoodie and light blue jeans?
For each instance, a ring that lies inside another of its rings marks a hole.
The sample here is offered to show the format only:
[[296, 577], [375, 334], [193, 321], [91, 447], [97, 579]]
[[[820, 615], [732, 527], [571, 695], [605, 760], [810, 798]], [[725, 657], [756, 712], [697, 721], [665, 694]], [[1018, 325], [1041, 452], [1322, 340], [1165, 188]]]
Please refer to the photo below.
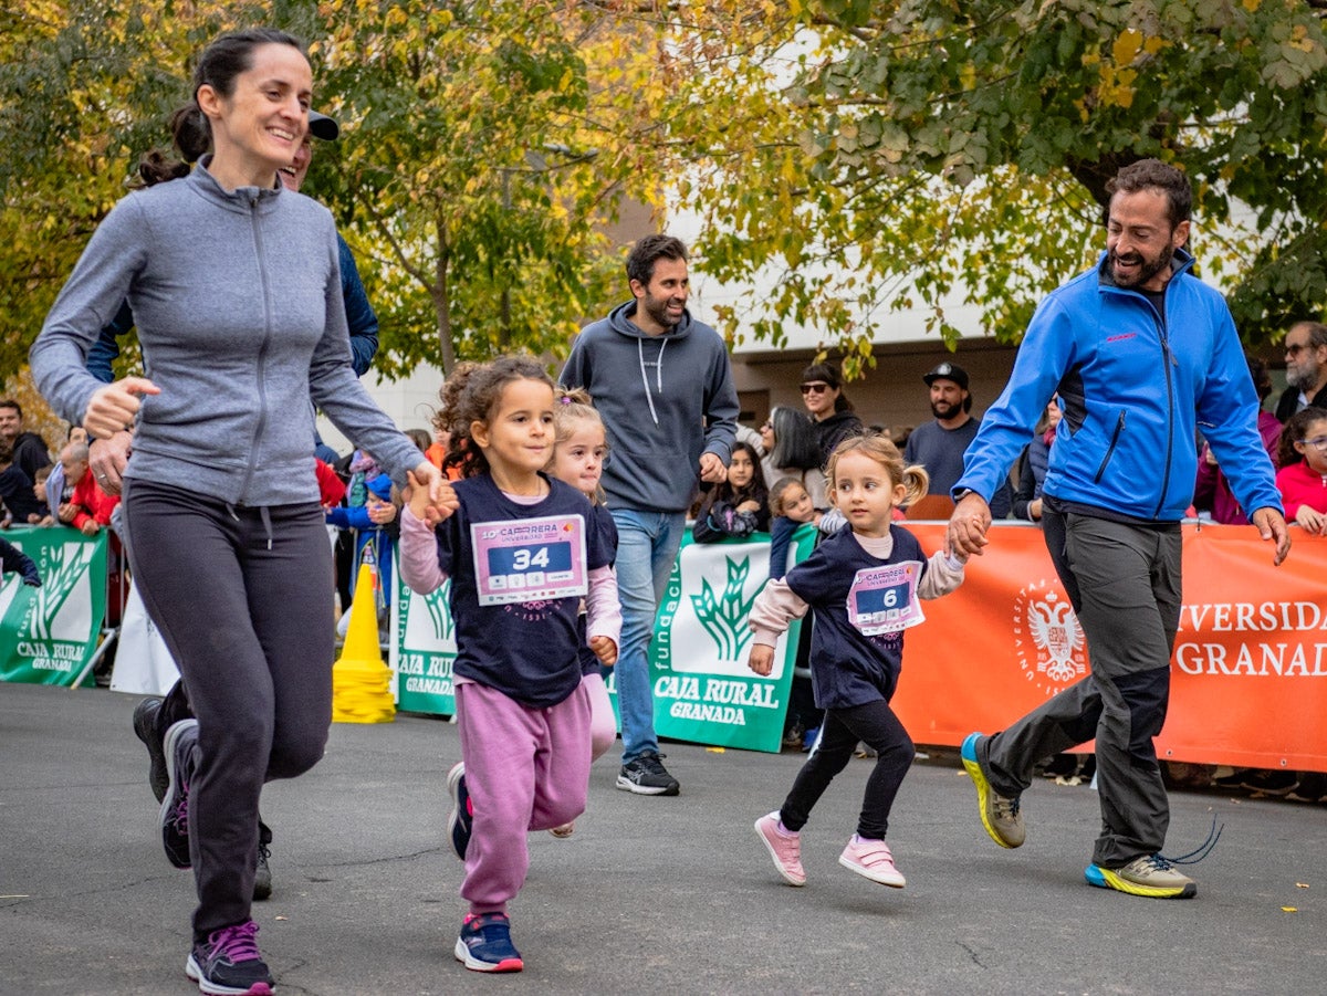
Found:
[[612, 452], [602, 487], [617, 524], [622, 599], [617, 788], [675, 796], [678, 781], [664, 768], [654, 735], [654, 613], [698, 480], [727, 476], [738, 395], [722, 337], [686, 310], [686, 245], [667, 235], [641, 239], [626, 257], [626, 277], [634, 300], [581, 330], [561, 382], [589, 391]]

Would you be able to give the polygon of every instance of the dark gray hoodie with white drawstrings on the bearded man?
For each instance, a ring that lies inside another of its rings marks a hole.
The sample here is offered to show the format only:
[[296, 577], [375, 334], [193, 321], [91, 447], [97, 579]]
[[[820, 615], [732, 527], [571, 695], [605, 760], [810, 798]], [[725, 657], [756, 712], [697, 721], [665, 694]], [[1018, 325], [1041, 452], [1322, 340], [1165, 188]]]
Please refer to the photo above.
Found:
[[641, 329], [633, 314], [629, 301], [581, 329], [561, 381], [589, 391], [604, 418], [609, 507], [681, 512], [695, 496], [701, 454], [725, 464], [731, 458], [733, 367], [719, 333], [690, 312], [662, 336]]

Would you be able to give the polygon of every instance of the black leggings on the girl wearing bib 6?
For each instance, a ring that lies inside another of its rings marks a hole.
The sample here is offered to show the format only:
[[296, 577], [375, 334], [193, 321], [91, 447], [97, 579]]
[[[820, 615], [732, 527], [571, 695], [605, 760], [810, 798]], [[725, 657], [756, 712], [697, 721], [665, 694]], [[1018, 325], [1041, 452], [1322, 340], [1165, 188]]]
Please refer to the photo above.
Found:
[[820, 724], [820, 737], [811, 748], [811, 757], [802, 765], [792, 790], [783, 801], [779, 818], [790, 830], [800, 830], [811, 818], [811, 810], [829, 788], [835, 775], [848, 767], [857, 741], [876, 751], [876, 767], [867, 780], [867, 793], [861, 800], [857, 834], [868, 840], [884, 840], [889, 830], [889, 810], [912, 765], [912, 737], [898, 721], [898, 716], [884, 699], [845, 710], [825, 710]]

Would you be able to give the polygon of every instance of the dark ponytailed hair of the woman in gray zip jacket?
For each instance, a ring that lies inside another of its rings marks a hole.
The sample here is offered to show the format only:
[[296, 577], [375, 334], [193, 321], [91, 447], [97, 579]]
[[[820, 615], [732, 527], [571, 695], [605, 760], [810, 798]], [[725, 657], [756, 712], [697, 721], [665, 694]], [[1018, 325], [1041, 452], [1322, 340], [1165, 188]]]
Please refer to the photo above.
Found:
[[138, 163], [139, 186], [153, 187], [188, 175], [190, 167], [212, 147], [212, 125], [198, 106], [199, 89], [207, 85], [222, 97], [231, 97], [235, 80], [253, 68], [253, 49], [261, 45], [289, 45], [308, 58], [299, 38], [276, 28], [249, 28], [215, 38], [198, 57], [192, 98], [170, 118], [171, 138], [180, 158], [171, 159], [161, 150], [143, 155]]

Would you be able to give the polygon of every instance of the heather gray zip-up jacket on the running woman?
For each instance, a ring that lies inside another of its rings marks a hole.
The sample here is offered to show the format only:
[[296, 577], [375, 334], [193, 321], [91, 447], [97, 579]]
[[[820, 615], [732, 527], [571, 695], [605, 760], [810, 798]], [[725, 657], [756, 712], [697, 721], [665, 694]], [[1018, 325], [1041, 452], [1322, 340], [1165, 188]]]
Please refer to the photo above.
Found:
[[227, 194], [206, 168], [130, 194], [98, 225], [29, 351], [74, 423], [85, 366], [129, 301], [147, 375], [126, 477], [245, 505], [317, 501], [309, 398], [394, 476], [421, 462], [350, 367], [330, 212], [283, 190]]

